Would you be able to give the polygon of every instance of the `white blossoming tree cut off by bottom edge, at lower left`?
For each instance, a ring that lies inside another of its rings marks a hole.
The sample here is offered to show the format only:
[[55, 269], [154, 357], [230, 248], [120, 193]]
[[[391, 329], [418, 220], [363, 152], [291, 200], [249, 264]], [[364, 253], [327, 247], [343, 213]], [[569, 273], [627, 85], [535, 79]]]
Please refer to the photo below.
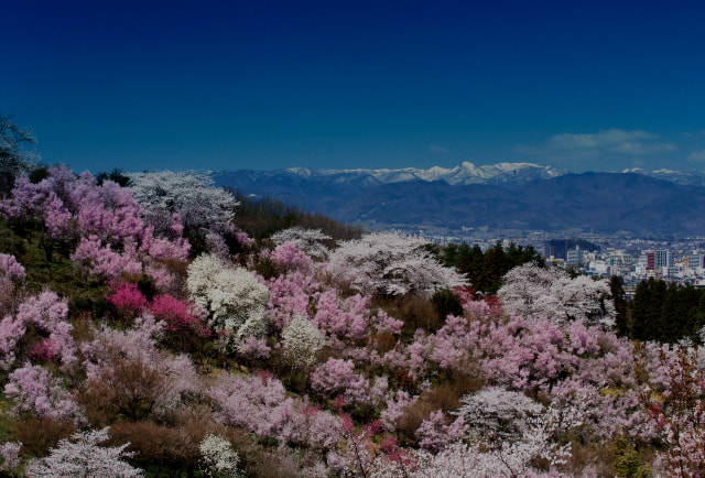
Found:
[[109, 438], [108, 427], [78, 432], [72, 441], [63, 438], [45, 458], [31, 459], [24, 472], [29, 478], [133, 478], [142, 470], [124, 458], [132, 456], [124, 450], [130, 444], [104, 447], [98, 444]]

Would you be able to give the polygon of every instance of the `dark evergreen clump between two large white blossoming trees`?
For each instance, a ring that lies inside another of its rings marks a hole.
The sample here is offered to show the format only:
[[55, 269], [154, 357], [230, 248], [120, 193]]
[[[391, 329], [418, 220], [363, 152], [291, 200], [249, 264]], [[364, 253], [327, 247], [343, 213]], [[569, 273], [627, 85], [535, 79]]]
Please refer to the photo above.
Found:
[[511, 243], [503, 248], [499, 241], [487, 251], [482, 251], [478, 245], [451, 243], [445, 247], [442, 261], [447, 267], [457, 268], [468, 278], [473, 289], [487, 295], [497, 293], [502, 285], [502, 278], [511, 269], [527, 262], [544, 265], [543, 257], [532, 246]]

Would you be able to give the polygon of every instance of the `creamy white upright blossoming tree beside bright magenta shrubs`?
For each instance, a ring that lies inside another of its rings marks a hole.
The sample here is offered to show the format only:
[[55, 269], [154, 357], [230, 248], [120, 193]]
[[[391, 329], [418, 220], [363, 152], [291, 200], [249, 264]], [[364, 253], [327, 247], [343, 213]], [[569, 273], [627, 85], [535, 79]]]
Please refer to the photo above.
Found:
[[209, 312], [224, 349], [235, 350], [247, 336], [264, 333], [269, 289], [247, 269], [228, 268], [217, 257], [202, 254], [188, 267], [186, 286], [191, 300]]

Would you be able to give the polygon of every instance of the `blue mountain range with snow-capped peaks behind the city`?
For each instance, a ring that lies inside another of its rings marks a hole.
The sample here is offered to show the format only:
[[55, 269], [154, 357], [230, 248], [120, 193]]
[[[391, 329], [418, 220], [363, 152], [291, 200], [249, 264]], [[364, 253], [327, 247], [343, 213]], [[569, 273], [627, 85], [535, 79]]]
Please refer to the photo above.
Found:
[[375, 227], [705, 235], [705, 172], [574, 174], [532, 163], [221, 171], [216, 184]]

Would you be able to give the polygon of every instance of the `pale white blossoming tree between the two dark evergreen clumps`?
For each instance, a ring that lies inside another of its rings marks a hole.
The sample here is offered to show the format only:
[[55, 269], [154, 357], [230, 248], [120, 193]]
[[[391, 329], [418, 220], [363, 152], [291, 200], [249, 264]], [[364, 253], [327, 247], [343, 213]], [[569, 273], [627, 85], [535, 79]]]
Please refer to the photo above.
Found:
[[556, 324], [583, 321], [611, 326], [615, 303], [607, 280], [586, 275], [571, 279], [560, 269], [527, 263], [509, 271], [497, 293], [505, 311], [529, 318], [547, 317]]

